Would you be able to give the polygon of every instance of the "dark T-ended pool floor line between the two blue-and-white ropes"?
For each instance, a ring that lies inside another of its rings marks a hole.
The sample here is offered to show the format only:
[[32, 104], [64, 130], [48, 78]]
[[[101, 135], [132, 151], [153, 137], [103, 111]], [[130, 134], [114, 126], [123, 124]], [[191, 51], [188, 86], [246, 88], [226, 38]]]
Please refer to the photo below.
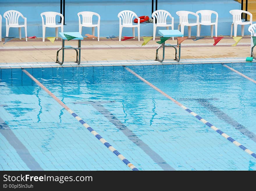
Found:
[[[117, 117], [115, 117], [109, 110], [101, 105], [102, 102], [97, 101], [79, 101], [74, 102], [75, 104], [91, 104], [95, 109], [99, 111], [104, 117], [106, 117], [113, 125], [115, 125], [120, 131], [122, 131], [127, 138], [138, 147], [140, 147], [150, 158], [157, 163], [163, 170], [175, 170], [161, 156], [159, 156], [155, 151], [153, 151], [145, 142], [138, 138], [127, 126], [120, 122]], [[103, 102], [104, 103], [104, 102]]]

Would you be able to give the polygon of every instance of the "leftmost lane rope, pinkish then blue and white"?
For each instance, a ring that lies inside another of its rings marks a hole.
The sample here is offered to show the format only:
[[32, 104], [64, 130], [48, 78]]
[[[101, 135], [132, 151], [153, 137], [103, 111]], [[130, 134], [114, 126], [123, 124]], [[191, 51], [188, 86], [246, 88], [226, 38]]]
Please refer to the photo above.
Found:
[[28, 71], [25, 72], [35, 83], [37, 83], [43, 90], [45, 90], [53, 99], [55, 99], [65, 110], [67, 110], [74, 118], [77, 119], [85, 128], [87, 128], [100, 142], [102, 142], [109, 150], [111, 150], [120, 160], [123, 161], [130, 169], [138, 170], [132, 163], [129, 162], [123, 155], [121, 155], [114, 147], [111, 146], [105, 139], [103, 139], [96, 131], [93, 130], [86, 122], [83, 121], [77, 114], [75, 114], [70, 108], [68, 108], [60, 99], [58, 99], [53, 93], [51, 93], [44, 85], [42, 85], [37, 79], [34, 78]]

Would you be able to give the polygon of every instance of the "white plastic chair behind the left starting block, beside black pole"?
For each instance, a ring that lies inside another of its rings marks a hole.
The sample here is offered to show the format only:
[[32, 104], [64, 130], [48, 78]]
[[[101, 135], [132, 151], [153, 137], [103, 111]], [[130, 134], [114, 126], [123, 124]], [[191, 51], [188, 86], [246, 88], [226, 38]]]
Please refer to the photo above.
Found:
[[[63, 21], [64, 21], [63, 15], [61, 13], [52, 12], [52, 11], [43, 12], [40, 15], [42, 17], [43, 42], [45, 42], [46, 27], [55, 28], [56, 39], [58, 39], [58, 27], [61, 27], [61, 32], [63, 33]], [[45, 21], [43, 16], [45, 16]], [[61, 24], [56, 24], [56, 16], [61, 16]]]

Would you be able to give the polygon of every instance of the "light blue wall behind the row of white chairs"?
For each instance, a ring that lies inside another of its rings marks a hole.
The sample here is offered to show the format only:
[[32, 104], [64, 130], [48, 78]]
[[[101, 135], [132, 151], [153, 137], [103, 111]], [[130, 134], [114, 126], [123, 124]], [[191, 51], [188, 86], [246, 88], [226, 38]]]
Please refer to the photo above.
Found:
[[[78, 16], [80, 11], [93, 11], [99, 13], [101, 16], [100, 23], [100, 37], [108, 37], [109, 35], [119, 35], [119, 19], [118, 13], [122, 10], [132, 10], [138, 16], [151, 15], [150, 0], [140, 1], [84, 1], [84, 0], [66, 0], [65, 6], [65, 32], [78, 31]], [[179, 24], [179, 17], [176, 15], [178, 10], [188, 10], [196, 12], [197, 10], [209, 9], [218, 12], [218, 35], [230, 35], [230, 26], [232, 23], [232, 15], [229, 11], [232, 9], [240, 9], [241, 4], [233, 0], [158, 0], [158, 9], [164, 9], [171, 13], [174, 17], [174, 29], [177, 29]], [[42, 37], [42, 19], [40, 13], [45, 11], [60, 12], [60, 0], [0, 0], [0, 14], [7, 10], [18, 10], [24, 17], [27, 17], [27, 31], [28, 36]], [[191, 17], [191, 22], [194, 19]], [[2, 20], [2, 36], [6, 34], [5, 19]], [[96, 22], [96, 21], [95, 21]], [[22, 22], [21, 22], [22, 23]], [[164, 29], [164, 28], [157, 28]], [[135, 30], [136, 31], [136, 30]], [[141, 36], [153, 35], [152, 23], [141, 23]], [[191, 35], [196, 35], [196, 27], [192, 27]], [[82, 35], [90, 33], [91, 28], [83, 27]], [[158, 33], [158, 32], [157, 32]], [[214, 32], [215, 34], [215, 32]], [[238, 35], [241, 34], [241, 27], [238, 28]], [[47, 28], [46, 37], [54, 36], [55, 29]], [[97, 35], [97, 30], [95, 30]], [[123, 28], [122, 36], [131, 36], [131, 28]], [[137, 35], [137, 31], [135, 32]], [[184, 35], [187, 34], [185, 27]], [[202, 26], [201, 36], [210, 35], [210, 26]], [[245, 26], [245, 35], [249, 35], [248, 25]], [[18, 36], [17, 28], [10, 28], [9, 36]], [[22, 36], [24, 36], [24, 29], [22, 29]]]

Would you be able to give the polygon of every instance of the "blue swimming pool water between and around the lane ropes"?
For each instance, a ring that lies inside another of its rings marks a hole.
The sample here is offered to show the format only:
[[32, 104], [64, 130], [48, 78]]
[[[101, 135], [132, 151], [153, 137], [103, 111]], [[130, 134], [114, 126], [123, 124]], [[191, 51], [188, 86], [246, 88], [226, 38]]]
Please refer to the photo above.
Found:
[[[227, 64], [256, 79], [255, 63]], [[256, 152], [256, 84], [221, 64], [127, 66]], [[26, 69], [139, 170], [256, 170], [256, 159], [125, 67]], [[130, 170], [22, 69], [1, 69], [1, 170]]]

